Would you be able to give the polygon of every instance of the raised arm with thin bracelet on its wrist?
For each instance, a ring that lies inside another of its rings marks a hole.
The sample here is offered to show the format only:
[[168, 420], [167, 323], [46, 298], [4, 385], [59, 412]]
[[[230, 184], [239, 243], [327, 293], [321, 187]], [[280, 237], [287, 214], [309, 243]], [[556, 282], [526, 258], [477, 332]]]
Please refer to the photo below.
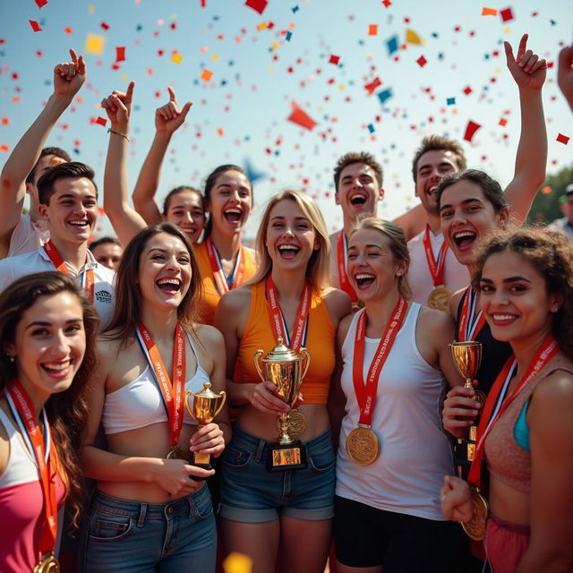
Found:
[[128, 244], [147, 224], [128, 202], [127, 167], [125, 156], [129, 141], [129, 116], [133, 100], [133, 81], [125, 93], [113, 91], [104, 98], [101, 107], [111, 123], [104, 173], [104, 209], [120, 242]]

